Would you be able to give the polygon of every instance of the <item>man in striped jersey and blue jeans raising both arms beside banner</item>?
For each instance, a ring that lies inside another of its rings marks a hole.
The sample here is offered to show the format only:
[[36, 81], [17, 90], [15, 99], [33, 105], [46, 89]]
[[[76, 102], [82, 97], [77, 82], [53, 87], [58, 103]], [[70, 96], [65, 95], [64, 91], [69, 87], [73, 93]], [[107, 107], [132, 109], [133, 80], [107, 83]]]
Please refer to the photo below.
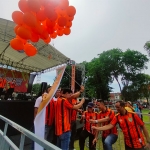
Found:
[[70, 136], [71, 136], [71, 109], [78, 110], [84, 103], [84, 98], [79, 104], [73, 105], [68, 99], [77, 98], [81, 90], [72, 94], [70, 89], [63, 89], [62, 96], [57, 99], [55, 109], [55, 134], [57, 135], [57, 146], [62, 150], [69, 150]]

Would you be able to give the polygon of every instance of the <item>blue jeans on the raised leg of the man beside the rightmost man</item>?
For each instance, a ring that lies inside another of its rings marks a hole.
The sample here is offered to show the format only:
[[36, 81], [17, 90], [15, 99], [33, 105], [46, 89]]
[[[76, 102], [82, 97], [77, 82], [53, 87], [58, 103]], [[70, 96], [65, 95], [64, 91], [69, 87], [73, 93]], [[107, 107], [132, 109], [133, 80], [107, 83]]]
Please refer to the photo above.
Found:
[[109, 134], [106, 138], [102, 137], [103, 149], [113, 150], [112, 145], [117, 141], [118, 135]]

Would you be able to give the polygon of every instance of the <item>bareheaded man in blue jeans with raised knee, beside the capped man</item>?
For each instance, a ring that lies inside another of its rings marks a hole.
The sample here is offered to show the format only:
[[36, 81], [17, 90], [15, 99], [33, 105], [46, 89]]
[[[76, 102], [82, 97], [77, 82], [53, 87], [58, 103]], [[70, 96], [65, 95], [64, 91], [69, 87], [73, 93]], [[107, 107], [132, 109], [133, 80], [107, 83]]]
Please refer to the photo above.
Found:
[[[115, 112], [109, 108], [107, 108], [104, 104], [103, 100], [99, 100], [97, 102], [97, 106], [100, 110], [98, 113], [98, 120], [90, 119], [91, 123], [101, 123], [102, 126], [109, 124], [115, 116]], [[98, 131], [95, 134], [95, 138], [93, 143], [97, 142], [98, 139]], [[114, 144], [118, 139], [117, 127], [114, 126], [111, 130], [103, 131], [102, 133], [102, 143], [104, 150], [112, 150], [112, 144]]]

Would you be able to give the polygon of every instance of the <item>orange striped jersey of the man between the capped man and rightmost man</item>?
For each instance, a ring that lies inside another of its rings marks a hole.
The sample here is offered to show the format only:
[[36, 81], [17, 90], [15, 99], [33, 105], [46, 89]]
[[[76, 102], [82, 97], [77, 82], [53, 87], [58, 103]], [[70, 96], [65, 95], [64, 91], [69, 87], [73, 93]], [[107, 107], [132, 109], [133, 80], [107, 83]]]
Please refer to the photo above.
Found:
[[[113, 110], [107, 108], [105, 112], [100, 111], [100, 113], [98, 114], [98, 119], [109, 117], [110, 121], [102, 123], [102, 126], [105, 126], [112, 121], [114, 116], [115, 116], [115, 112]], [[115, 126], [110, 130], [103, 131], [102, 136], [106, 138], [109, 134], [117, 134], [117, 127]]]

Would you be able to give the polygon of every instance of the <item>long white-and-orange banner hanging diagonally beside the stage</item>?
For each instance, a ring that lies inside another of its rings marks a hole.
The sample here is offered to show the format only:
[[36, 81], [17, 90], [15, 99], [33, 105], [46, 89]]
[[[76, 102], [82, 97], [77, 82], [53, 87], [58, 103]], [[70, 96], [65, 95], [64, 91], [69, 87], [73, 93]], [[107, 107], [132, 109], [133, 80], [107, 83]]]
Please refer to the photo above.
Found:
[[[49, 104], [51, 99], [53, 98], [54, 94], [56, 93], [61, 79], [63, 77], [64, 71], [65, 71], [66, 66], [63, 66], [61, 68], [58, 68], [57, 71], [57, 76], [56, 79], [51, 87], [51, 90], [48, 94], [44, 94], [42, 97], [42, 102], [38, 108], [38, 113], [34, 119], [34, 129], [35, 129], [35, 134], [41, 138], [44, 139], [44, 133], [45, 133], [45, 111], [46, 111], [46, 106]], [[41, 147], [39, 144], [36, 142], [34, 143], [34, 150], [43, 150], [43, 147]]]

